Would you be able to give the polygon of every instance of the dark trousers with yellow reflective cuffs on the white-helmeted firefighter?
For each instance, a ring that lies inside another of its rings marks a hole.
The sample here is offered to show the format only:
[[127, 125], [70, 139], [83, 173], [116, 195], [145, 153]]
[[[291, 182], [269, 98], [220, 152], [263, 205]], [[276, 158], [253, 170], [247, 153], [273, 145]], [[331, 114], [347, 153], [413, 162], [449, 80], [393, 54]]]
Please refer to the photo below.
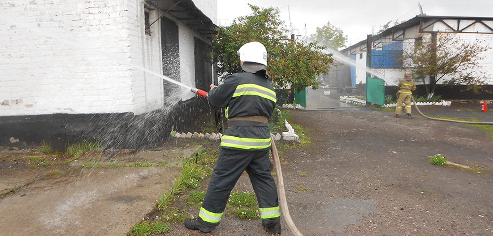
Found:
[[[246, 151], [221, 148], [200, 212], [208, 217], [217, 218], [215, 223], [211, 223], [199, 217], [203, 224], [212, 227], [219, 224], [231, 190], [244, 171], [250, 177], [257, 196], [262, 224], [277, 223], [281, 220], [276, 183], [270, 170], [269, 149]], [[266, 216], [266, 212], [272, 214], [267, 213]]]

